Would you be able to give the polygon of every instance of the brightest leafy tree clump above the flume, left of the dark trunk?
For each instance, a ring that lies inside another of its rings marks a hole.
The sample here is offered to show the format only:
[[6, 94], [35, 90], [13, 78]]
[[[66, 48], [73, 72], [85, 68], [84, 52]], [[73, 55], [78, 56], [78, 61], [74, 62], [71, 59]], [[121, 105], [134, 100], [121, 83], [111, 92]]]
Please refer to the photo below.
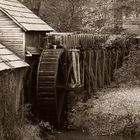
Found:
[[[111, 5], [110, 0], [94, 0], [85, 7], [85, 15], [83, 17], [83, 24], [85, 30], [93, 30], [98, 32], [103, 26], [109, 23], [113, 23], [111, 17], [111, 11], [109, 7]], [[111, 21], [109, 21], [111, 19]]]

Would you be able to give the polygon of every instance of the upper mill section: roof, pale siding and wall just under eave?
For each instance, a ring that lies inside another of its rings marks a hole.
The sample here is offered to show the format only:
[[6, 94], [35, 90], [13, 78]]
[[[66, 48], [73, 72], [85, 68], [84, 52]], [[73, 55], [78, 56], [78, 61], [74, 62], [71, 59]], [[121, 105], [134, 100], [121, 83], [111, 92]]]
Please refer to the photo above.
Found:
[[[0, 41], [25, 59], [29, 47], [53, 29], [17, 0], [0, 0]], [[32, 50], [32, 49], [30, 49]]]

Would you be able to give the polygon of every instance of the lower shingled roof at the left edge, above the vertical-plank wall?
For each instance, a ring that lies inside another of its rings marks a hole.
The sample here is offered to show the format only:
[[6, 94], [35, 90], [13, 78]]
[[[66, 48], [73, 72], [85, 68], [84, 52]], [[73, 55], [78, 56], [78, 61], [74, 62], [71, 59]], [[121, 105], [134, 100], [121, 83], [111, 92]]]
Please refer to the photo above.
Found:
[[26, 62], [22, 61], [12, 51], [0, 44], [0, 71], [28, 66]]

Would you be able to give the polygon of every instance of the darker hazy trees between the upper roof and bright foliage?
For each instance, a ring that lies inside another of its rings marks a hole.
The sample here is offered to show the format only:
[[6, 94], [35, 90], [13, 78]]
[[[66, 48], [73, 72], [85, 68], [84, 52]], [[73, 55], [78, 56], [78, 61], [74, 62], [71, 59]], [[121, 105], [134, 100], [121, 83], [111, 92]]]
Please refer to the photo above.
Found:
[[88, 0], [20, 0], [56, 31], [79, 31]]

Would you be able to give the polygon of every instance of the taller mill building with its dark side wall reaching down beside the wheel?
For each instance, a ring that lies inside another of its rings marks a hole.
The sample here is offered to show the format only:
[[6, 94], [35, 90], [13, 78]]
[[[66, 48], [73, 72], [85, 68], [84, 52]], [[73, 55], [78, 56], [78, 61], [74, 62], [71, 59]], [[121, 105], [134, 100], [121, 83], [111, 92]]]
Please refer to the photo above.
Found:
[[28, 99], [35, 97], [31, 93], [36, 88], [41, 39], [51, 31], [48, 24], [18, 0], [0, 0], [0, 42], [30, 65], [25, 82]]

